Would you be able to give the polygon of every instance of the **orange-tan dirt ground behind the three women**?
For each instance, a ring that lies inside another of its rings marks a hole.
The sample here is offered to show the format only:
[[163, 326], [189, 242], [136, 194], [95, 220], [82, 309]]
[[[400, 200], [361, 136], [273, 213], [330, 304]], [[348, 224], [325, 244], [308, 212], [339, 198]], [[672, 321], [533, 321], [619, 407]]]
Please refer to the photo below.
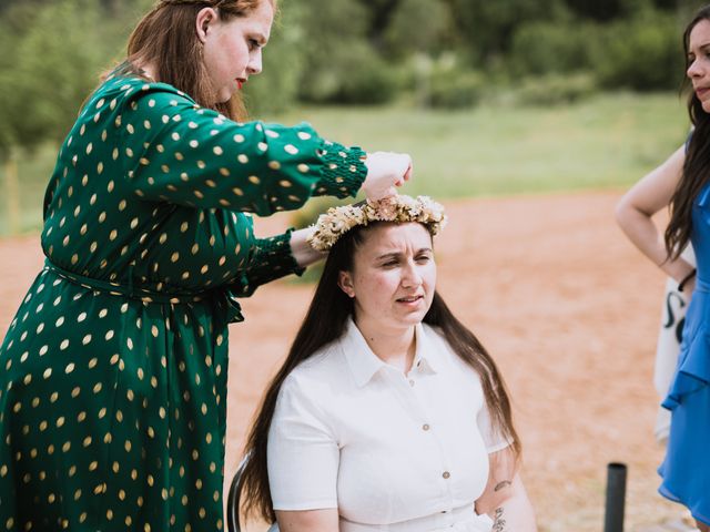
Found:
[[[602, 530], [610, 461], [629, 466], [627, 530], [682, 514], [656, 494], [652, 368], [665, 277], [616, 227], [618, 195], [445, 202], [438, 287], [506, 377], [541, 532]], [[256, 221], [264, 235], [287, 223]], [[38, 236], [0, 239], [0, 331], [42, 260]], [[227, 481], [312, 290], [261, 287], [243, 303], [246, 321], [231, 328]]]

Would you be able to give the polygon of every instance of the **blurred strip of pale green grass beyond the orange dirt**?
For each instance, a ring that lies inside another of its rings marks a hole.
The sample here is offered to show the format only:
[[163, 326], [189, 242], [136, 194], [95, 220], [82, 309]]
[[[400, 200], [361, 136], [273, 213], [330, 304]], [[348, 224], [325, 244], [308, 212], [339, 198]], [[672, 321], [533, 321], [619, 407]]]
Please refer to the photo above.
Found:
[[[628, 186], [679, 146], [688, 131], [673, 93], [599, 94], [555, 108], [298, 109], [268, 121], [311, 122], [327, 139], [365, 150], [408, 152], [415, 178], [403, 192], [438, 198]], [[55, 149], [20, 161], [22, 229], [41, 225]], [[0, 187], [3, 185], [0, 170]], [[0, 235], [7, 206], [0, 188]]]

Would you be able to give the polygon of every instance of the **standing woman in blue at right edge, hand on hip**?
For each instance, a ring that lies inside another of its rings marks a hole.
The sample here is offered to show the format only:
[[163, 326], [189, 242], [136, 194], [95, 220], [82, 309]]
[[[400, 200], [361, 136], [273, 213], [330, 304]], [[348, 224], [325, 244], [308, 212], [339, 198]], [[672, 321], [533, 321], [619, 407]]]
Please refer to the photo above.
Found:
[[[693, 133], [619, 202], [617, 219], [638, 248], [692, 293], [681, 352], [663, 407], [671, 411], [660, 493], [684, 504], [710, 530], [710, 6], [683, 34]], [[670, 206], [662, 242], [651, 219]], [[680, 252], [692, 244], [698, 269]]]

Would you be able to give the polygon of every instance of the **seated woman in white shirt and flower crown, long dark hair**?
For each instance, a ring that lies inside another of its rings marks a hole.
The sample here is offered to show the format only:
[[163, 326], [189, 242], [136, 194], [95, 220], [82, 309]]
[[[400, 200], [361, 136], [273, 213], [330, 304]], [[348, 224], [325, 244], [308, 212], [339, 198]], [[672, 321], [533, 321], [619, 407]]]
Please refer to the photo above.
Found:
[[245, 510], [282, 532], [535, 531], [495, 362], [436, 291], [427, 197], [337, 207], [252, 429]]

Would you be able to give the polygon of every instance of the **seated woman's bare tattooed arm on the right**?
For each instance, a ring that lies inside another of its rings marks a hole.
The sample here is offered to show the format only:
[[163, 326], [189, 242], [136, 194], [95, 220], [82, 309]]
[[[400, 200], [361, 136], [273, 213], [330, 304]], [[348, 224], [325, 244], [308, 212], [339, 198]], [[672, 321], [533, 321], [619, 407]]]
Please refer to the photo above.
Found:
[[537, 532], [535, 511], [516, 470], [513, 451], [506, 448], [489, 459], [488, 483], [476, 501], [476, 511], [494, 520], [491, 532]]

